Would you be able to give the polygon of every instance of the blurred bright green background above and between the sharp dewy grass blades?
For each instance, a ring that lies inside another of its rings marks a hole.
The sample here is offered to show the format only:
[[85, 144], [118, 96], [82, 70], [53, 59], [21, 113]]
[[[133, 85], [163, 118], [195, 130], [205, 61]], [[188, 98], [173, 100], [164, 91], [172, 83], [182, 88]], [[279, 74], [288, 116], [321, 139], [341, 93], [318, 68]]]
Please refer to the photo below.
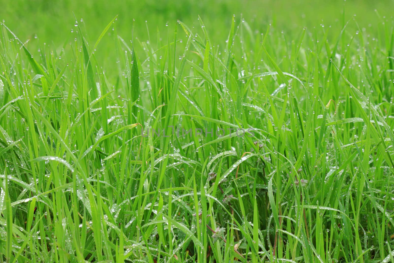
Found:
[[[335, 43], [348, 21], [344, 39], [351, 41], [352, 35], [359, 30], [377, 41], [379, 35], [389, 33], [384, 31], [382, 24], [392, 17], [394, 7], [394, 0], [0, 0], [0, 3], [0, 21], [22, 42], [29, 40], [25, 46], [32, 55], [44, 56], [43, 52], [51, 52], [59, 60], [61, 58], [63, 63], [60, 65], [69, 63], [70, 55], [75, 54], [71, 48], [75, 47], [74, 39], [80, 37], [78, 27], [74, 26], [76, 22], [92, 48], [102, 30], [118, 16], [95, 52], [98, 66], [110, 79], [117, 78], [113, 69], [121, 70], [122, 48], [124, 45], [131, 47], [132, 39], [135, 40], [137, 57], [145, 65], [148, 50], [155, 52], [172, 42], [177, 27], [177, 48], [182, 52], [187, 37], [177, 24], [178, 20], [189, 28], [194, 25], [193, 32], [203, 34], [198, 20], [200, 16], [212, 45], [223, 52], [233, 15], [236, 26], [245, 21], [243, 24], [250, 29], [251, 39], [255, 38], [252, 35], [265, 34], [270, 26], [269, 38], [272, 43], [280, 41], [283, 48], [290, 47], [304, 27], [307, 27], [307, 38], [315, 43], [318, 36], [323, 35], [327, 36], [329, 43]], [[124, 39], [124, 44], [120, 44], [122, 47], [117, 44], [118, 36]], [[377, 45], [385, 47], [383, 42]]]

